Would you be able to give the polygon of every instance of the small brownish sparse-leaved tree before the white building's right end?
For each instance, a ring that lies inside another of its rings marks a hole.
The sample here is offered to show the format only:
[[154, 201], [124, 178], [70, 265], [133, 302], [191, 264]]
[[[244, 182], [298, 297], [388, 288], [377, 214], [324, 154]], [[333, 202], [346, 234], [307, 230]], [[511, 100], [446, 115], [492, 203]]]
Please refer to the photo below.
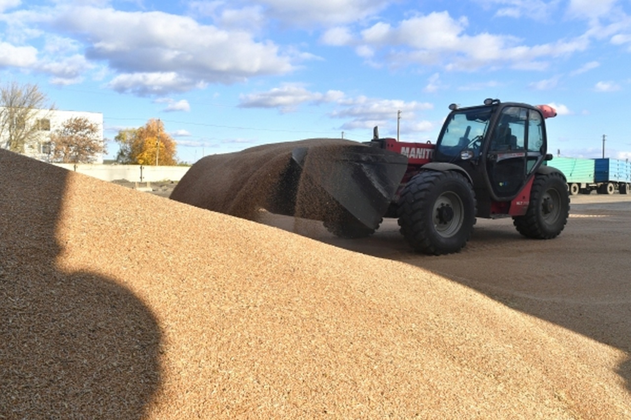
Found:
[[105, 153], [98, 125], [86, 117], [72, 117], [50, 136], [51, 160], [62, 163], [92, 163]]

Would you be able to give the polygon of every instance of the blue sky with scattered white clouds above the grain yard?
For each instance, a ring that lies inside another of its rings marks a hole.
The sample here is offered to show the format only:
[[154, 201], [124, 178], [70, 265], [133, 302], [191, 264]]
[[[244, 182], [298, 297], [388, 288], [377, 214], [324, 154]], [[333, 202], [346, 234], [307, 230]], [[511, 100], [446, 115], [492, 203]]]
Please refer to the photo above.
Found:
[[[450, 103], [550, 104], [550, 151], [631, 158], [630, 0], [0, 0], [0, 83], [194, 162], [309, 137], [434, 141]], [[108, 155], [118, 150], [109, 143]]]

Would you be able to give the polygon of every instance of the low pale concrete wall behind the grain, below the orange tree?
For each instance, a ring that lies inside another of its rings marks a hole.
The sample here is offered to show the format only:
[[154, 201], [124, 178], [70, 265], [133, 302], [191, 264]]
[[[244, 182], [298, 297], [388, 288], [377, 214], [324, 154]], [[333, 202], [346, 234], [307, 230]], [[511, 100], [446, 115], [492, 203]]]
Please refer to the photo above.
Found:
[[97, 165], [88, 163], [52, 163], [98, 178], [103, 181], [127, 180], [131, 182], [179, 181], [190, 166], [144, 166], [144, 165]]

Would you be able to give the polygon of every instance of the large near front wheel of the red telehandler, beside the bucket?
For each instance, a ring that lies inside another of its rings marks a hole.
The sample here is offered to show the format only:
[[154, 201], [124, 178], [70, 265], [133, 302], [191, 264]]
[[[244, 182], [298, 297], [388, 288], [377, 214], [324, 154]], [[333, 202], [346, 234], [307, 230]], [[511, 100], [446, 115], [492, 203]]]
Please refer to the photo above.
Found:
[[471, 237], [476, 201], [469, 181], [454, 171], [423, 171], [403, 187], [398, 202], [401, 233], [417, 252], [459, 252]]

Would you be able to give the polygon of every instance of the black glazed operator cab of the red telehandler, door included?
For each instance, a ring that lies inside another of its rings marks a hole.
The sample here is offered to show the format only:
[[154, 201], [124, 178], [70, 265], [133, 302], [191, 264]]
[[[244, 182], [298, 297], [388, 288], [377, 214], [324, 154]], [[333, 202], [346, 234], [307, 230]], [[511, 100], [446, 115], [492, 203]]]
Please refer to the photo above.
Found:
[[452, 163], [469, 175], [482, 214], [485, 202], [507, 202], [526, 186], [546, 155], [545, 105], [487, 99], [484, 105], [452, 104], [437, 140], [434, 162]]

